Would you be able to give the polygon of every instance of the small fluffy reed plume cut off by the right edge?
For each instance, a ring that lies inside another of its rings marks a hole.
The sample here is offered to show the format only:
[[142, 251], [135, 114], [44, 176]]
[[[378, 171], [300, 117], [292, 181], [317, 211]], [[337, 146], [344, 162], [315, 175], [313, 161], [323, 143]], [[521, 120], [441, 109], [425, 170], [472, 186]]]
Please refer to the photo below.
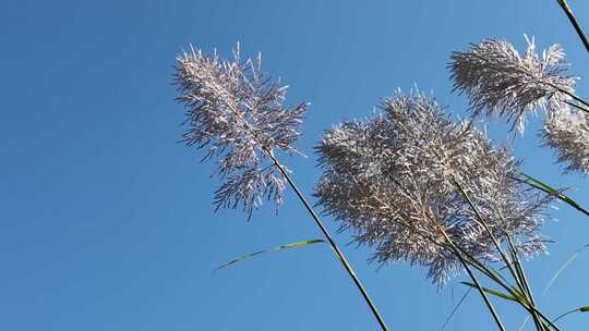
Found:
[[589, 114], [563, 107], [549, 113], [541, 134], [544, 145], [556, 151], [565, 171], [589, 172]]

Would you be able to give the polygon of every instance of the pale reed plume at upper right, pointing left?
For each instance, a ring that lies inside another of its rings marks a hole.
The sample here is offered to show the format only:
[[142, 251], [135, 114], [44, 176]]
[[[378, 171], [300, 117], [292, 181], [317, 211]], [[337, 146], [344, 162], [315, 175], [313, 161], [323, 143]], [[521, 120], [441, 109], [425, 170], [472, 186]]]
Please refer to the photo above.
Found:
[[473, 115], [503, 117], [520, 133], [528, 112], [560, 109], [575, 93], [575, 77], [566, 76], [568, 63], [561, 46], [539, 57], [533, 38], [520, 57], [504, 40], [486, 39], [467, 52], [453, 52], [449, 69], [454, 89], [465, 93]]

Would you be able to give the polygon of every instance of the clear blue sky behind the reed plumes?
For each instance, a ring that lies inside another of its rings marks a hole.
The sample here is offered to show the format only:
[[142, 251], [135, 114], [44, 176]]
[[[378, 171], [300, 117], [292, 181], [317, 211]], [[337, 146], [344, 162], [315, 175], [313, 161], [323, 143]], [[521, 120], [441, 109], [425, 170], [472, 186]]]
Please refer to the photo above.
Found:
[[[589, 28], [589, 2], [569, 1]], [[322, 131], [373, 112], [400, 87], [433, 91], [456, 115], [449, 52], [484, 37], [520, 49], [558, 42], [572, 72], [589, 61], [552, 0], [494, 1], [31, 1], [0, 5], [1, 330], [376, 330], [329, 247], [261, 256], [214, 272], [244, 253], [320, 238], [291, 193], [275, 217], [251, 222], [213, 211], [214, 164], [177, 144], [183, 109], [173, 100], [176, 56], [193, 44], [244, 56], [290, 85], [289, 103], [312, 103], [299, 142], [308, 159], [285, 159], [305, 193], [318, 176]], [[585, 81], [578, 94], [589, 97]], [[588, 180], [562, 175], [538, 147], [532, 120], [516, 154], [524, 169], [589, 205]], [[503, 124], [492, 125], [501, 142]], [[560, 205], [544, 233], [550, 255], [526, 263], [551, 316], [589, 304], [589, 252], [544, 295], [558, 267], [589, 243], [589, 218]], [[337, 224], [325, 219], [335, 231]], [[436, 289], [406, 263], [377, 269], [350, 233], [336, 235], [392, 330], [438, 330], [466, 289]], [[521, 309], [497, 303], [509, 330]], [[586, 330], [572, 315], [566, 330]], [[531, 327], [531, 326], [530, 326]], [[446, 330], [492, 330], [472, 293]]]

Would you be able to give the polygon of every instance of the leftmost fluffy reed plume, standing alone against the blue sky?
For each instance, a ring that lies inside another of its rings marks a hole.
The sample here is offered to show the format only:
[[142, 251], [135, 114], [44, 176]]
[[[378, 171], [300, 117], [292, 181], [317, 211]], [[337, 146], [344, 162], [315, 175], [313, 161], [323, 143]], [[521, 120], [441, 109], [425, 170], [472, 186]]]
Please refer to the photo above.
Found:
[[292, 144], [308, 106], [283, 107], [287, 86], [264, 76], [261, 62], [260, 56], [242, 61], [239, 45], [232, 61], [191, 47], [178, 57], [175, 73], [189, 126], [182, 142], [207, 148], [203, 160], [216, 159], [224, 180], [216, 208], [241, 205], [249, 218], [264, 197], [281, 203], [284, 179], [266, 157], [277, 149], [297, 152]]

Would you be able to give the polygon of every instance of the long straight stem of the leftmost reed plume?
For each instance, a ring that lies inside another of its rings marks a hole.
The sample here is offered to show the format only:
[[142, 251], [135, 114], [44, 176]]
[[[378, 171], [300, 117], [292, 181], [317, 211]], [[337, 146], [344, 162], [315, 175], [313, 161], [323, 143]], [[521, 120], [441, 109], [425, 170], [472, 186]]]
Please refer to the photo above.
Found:
[[231, 111], [233, 112], [233, 114], [243, 123], [245, 128], [252, 134], [254, 139], [257, 140], [257, 143], [260, 143], [260, 146], [262, 146], [261, 147], [262, 151], [266, 155], [266, 157], [268, 157], [272, 160], [273, 164], [276, 168], [278, 168], [278, 171], [280, 171], [280, 173], [283, 174], [285, 180], [288, 182], [288, 184], [290, 185], [292, 191], [294, 191], [294, 193], [297, 194], [297, 197], [299, 198], [299, 200], [303, 204], [306, 211], [309, 211], [309, 214], [311, 214], [311, 217], [313, 218], [313, 220], [315, 221], [315, 223], [320, 228], [321, 232], [325, 236], [325, 238], [327, 238], [327, 242], [329, 243], [329, 245], [334, 249], [334, 252], [337, 255], [337, 257], [338, 257], [339, 261], [341, 262], [341, 265], [344, 265], [344, 268], [346, 269], [346, 271], [348, 272], [348, 274], [352, 279], [353, 283], [356, 284], [356, 287], [358, 287], [358, 290], [362, 294], [362, 297], [364, 298], [364, 301], [369, 305], [372, 314], [374, 315], [374, 317], [378, 321], [378, 324], [381, 326], [383, 331], [388, 331], [388, 328], [386, 327], [386, 323], [385, 323], [383, 317], [381, 316], [381, 314], [378, 312], [378, 309], [376, 308], [376, 306], [374, 305], [374, 303], [372, 302], [372, 299], [368, 295], [368, 292], [364, 289], [364, 286], [362, 285], [362, 282], [360, 282], [360, 279], [358, 278], [358, 275], [353, 271], [352, 267], [350, 266], [350, 263], [348, 262], [348, 260], [346, 259], [346, 257], [344, 256], [344, 254], [341, 253], [341, 250], [337, 246], [336, 242], [334, 241], [334, 238], [332, 237], [332, 235], [327, 231], [327, 228], [325, 228], [325, 225], [321, 221], [321, 219], [317, 216], [317, 213], [315, 212], [315, 210], [313, 210], [313, 207], [311, 206], [311, 204], [309, 204], [309, 201], [306, 200], [306, 198], [304, 197], [302, 192], [299, 189], [299, 187], [294, 183], [294, 180], [292, 180], [292, 177], [285, 170], [283, 164], [280, 164], [278, 159], [274, 156], [274, 152], [272, 151], [272, 149], [269, 149], [268, 147], [261, 144], [260, 138], [257, 137], [257, 133], [252, 128], [250, 123], [241, 115], [241, 113], [239, 111], [237, 111], [237, 107], [235, 107], [233, 105], [228, 105], [228, 106], [229, 106], [229, 109], [231, 109]]

